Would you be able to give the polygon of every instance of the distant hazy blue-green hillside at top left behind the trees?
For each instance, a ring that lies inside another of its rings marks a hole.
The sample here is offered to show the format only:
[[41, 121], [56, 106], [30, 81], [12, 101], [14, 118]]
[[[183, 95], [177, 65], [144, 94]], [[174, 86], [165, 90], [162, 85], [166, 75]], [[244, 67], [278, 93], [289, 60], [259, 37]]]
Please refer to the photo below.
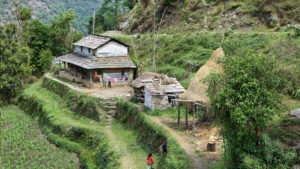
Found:
[[[32, 8], [33, 18], [49, 23], [60, 11], [72, 9], [76, 18], [74, 26], [81, 32], [87, 32], [89, 17], [100, 8], [103, 0], [18, 0], [21, 5]], [[0, 0], [0, 24], [14, 19], [11, 14], [14, 1]]]

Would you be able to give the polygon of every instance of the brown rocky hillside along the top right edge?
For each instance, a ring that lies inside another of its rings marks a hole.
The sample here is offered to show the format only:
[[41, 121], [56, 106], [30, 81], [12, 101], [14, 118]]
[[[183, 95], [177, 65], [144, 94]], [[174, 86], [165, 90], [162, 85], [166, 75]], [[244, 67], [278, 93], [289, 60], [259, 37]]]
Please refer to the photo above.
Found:
[[162, 23], [174, 32], [222, 28], [280, 29], [300, 23], [298, 0], [158, 0], [156, 3], [141, 0], [124, 18], [124, 30], [146, 32], [153, 28], [154, 18], [158, 27], [165, 9]]

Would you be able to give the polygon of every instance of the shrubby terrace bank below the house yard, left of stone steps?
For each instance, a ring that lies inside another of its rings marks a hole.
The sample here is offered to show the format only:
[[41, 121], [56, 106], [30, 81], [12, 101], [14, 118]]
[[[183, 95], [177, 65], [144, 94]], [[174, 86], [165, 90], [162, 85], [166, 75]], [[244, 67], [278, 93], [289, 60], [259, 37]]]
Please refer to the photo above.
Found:
[[95, 98], [73, 91], [69, 87], [46, 77], [43, 79], [42, 85], [63, 98], [72, 111], [93, 120], [99, 120], [99, 112], [97, 110], [99, 103], [97, 103]]

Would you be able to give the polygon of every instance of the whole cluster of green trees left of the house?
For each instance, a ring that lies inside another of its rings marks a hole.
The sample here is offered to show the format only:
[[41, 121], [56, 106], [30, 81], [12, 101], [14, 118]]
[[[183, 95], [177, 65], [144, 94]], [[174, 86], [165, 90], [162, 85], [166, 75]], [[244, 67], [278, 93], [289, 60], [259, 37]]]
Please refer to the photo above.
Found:
[[53, 60], [72, 50], [73, 41], [81, 38], [70, 23], [74, 13], [67, 11], [55, 16], [51, 25], [32, 20], [31, 9], [16, 5], [18, 26], [0, 26], [0, 104], [11, 98], [34, 76], [42, 76]]

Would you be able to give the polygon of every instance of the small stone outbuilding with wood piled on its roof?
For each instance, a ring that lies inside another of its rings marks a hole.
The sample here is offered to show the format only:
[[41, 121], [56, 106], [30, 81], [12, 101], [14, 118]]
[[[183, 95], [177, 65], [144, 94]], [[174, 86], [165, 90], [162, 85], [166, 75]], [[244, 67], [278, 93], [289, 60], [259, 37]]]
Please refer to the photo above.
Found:
[[172, 100], [185, 92], [176, 78], [147, 72], [135, 79], [131, 86], [134, 96], [150, 109], [166, 109], [172, 106]]

